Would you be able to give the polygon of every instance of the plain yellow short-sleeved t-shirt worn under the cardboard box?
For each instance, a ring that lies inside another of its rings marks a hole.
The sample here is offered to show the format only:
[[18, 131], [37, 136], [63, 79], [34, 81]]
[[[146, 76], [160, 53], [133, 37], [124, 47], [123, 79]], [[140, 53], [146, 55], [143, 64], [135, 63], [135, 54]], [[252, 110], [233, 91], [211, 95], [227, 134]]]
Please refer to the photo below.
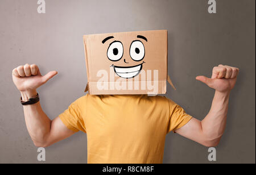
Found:
[[85, 95], [60, 119], [88, 140], [88, 163], [162, 163], [166, 134], [192, 117], [162, 96]]

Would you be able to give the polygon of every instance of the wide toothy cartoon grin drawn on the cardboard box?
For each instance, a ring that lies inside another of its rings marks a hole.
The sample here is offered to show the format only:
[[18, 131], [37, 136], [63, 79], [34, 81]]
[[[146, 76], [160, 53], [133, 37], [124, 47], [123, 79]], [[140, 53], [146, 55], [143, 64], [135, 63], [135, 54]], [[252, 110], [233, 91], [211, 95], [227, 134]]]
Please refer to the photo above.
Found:
[[142, 64], [135, 65], [135, 66], [127, 66], [127, 67], [115, 66], [115, 65], [112, 65], [112, 66], [114, 67], [115, 73], [119, 77], [122, 77], [122, 78], [133, 78], [133, 77], [137, 76], [141, 72]]

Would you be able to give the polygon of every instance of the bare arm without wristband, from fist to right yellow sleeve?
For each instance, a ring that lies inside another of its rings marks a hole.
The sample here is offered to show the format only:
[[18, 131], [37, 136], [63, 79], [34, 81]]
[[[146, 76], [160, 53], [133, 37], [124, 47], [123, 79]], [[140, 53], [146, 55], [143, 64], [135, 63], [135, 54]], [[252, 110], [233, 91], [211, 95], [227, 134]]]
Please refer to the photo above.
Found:
[[238, 69], [219, 65], [213, 68], [212, 78], [204, 76], [197, 80], [215, 89], [212, 107], [205, 118], [200, 121], [192, 118], [185, 126], [176, 130], [177, 134], [203, 144], [216, 147], [224, 134], [228, 114], [229, 94], [236, 84]]

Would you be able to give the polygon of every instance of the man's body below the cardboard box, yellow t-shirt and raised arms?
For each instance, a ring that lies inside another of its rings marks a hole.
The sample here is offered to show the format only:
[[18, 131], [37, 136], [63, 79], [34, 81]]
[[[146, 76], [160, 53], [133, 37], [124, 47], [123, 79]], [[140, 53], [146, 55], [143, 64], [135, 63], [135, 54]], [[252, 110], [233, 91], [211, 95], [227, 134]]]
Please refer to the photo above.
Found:
[[162, 163], [164, 140], [170, 131], [206, 147], [219, 143], [238, 71], [218, 65], [211, 78], [196, 77], [216, 90], [212, 107], [202, 121], [170, 99], [147, 95], [85, 95], [50, 120], [35, 98], [36, 89], [57, 72], [42, 76], [38, 66], [26, 64], [13, 69], [13, 81], [22, 96], [27, 130], [37, 147], [83, 131], [88, 138], [88, 163]]

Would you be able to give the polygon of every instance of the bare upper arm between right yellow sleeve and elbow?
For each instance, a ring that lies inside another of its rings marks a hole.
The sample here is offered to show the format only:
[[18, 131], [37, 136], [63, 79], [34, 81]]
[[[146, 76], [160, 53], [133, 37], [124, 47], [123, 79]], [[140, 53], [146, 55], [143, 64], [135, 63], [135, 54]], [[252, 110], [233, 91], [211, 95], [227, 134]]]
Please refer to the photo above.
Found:
[[204, 136], [200, 120], [192, 118], [183, 127], [175, 130], [175, 132], [187, 139], [196, 141], [200, 144], [204, 144]]

